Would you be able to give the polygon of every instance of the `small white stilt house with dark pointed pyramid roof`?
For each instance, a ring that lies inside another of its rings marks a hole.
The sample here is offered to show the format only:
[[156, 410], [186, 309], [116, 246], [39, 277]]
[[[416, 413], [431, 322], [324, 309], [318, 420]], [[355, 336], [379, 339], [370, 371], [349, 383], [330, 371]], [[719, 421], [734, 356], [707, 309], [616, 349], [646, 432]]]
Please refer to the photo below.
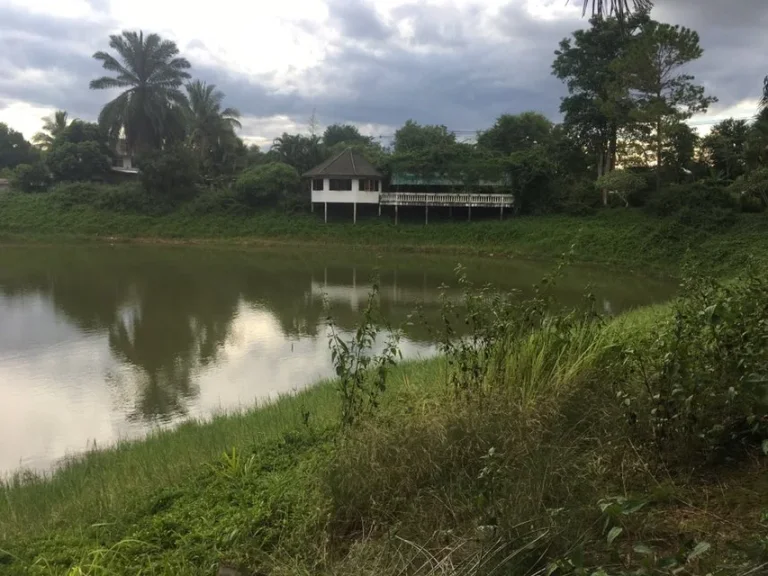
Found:
[[357, 221], [358, 204], [378, 204], [381, 173], [363, 156], [347, 148], [303, 174], [311, 179], [312, 208], [323, 205], [328, 222], [328, 204], [352, 204], [352, 218]]

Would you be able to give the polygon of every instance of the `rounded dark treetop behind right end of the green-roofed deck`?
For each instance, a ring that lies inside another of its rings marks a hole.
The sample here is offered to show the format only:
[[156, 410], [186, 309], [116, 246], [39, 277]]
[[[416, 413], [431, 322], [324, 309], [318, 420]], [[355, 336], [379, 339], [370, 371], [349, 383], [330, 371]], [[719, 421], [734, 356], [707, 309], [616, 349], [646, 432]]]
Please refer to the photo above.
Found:
[[548, 144], [552, 127], [552, 122], [538, 112], [502, 114], [491, 128], [478, 135], [477, 145], [502, 154], [529, 150], [537, 144]]

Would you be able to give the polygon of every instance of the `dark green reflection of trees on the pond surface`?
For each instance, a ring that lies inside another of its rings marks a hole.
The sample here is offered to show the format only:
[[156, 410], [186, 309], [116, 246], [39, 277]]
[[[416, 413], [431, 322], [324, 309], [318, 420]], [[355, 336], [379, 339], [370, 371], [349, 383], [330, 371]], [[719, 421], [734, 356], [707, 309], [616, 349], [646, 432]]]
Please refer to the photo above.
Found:
[[[113, 356], [133, 369], [134, 417], [166, 419], [197, 396], [197, 372], [218, 361], [243, 305], [268, 311], [288, 338], [317, 338], [324, 337], [327, 294], [337, 325], [352, 330], [379, 266], [385, 317], [408, 339], [430, 341], [429, 329], [407, 324], [408, 315], [424, 302], [425, 315], [439, 318], [436, 289], [455, 285], [452, 262], [362, 260], [215, 249], [14, 249], [0, 254], [0, 294], [46, 295], [83, 332], [106, 334]], [[543, 270], [501, 263], [469, 273], [477, 283], [493, 279], [508, 289], [529, 286]], [[585, 283], [566, 284], [556, 297], [576, 301]], [[649, 298], [637, 283], [626, 293], [611, 289], [619, 294], [610, 303], [616, 310]]]

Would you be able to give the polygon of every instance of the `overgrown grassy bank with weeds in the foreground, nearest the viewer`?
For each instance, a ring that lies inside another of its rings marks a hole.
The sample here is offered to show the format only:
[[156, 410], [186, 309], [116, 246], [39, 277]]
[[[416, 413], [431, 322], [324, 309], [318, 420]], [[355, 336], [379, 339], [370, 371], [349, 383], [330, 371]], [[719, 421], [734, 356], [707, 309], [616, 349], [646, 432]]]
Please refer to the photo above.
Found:
[[765, 290], [694, 278], [610, 321], [468, 295], [474, 345], [353, 426], [329, 382], [17, 478], [0, 571], [763, 573]]

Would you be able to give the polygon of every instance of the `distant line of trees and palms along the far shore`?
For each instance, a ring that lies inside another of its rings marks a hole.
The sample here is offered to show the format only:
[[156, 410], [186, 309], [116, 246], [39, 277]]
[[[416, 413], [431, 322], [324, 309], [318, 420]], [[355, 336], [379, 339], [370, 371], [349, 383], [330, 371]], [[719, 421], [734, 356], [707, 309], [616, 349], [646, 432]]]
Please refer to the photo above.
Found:
[[635, 4], [630, 12], [627, 2], [600, 3], [603, 17], [560, 42], [552, 66], [568, 89], [560, 124], [533, 111], [502, 114], [470, 142], [445, 126], [408, 120], [385, 146], [350, 124], [320, 132], [313, 114], [308, 133], [284, 133], [262, 151], [237, 136], [239, 111], [225, 106], [216, 86], [192, 79], [173, 42], [123, 32], [110, 37], [110, 52], [94, 54], [109, 74], [91, 88], [121, 91], [98, 123], [57, 111], [34, 146], [0, 125], [0, 170], [26, 192], [111, 182], [121, 148], [139, 166], [141, 186], [125, 188], [131, 199], [116, 201], [118, 208], [172, 209], [194, 200], [203, 212], [301, 209], [309, 190], [300, 175], [353, 148], [385, 178], [438, 177], [462, 190], [489, 190], [491, 183], [514, 194], [521, 213], [587, 214], [600, 206], [647, 206], [660, 215], [702, 205], [764, 210], [768, 82], [753, 120], [725, 120], [701, 138], [687, 121], [716, 98], [687, 72], [703, 54], [698, 34], [657, 22], [644, 9], [648, 3]]

